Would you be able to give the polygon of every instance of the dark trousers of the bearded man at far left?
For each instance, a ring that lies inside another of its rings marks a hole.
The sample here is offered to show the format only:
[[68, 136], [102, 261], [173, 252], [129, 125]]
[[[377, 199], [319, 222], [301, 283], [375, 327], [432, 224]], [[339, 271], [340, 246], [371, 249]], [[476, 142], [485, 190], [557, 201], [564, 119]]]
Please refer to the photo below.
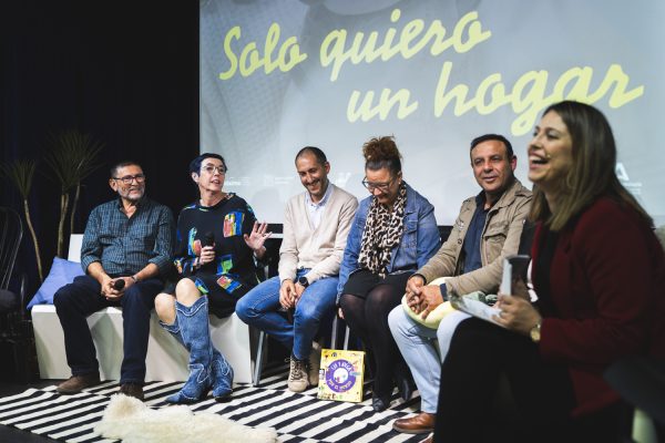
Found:
[[53, 296], [53, 305], [64, 332], [66, 362], [72, 375], [99, 371], [92, 334], [85, 318], [109, 306], [122, 307], [123, 352], [121, 383], [142, 384], [145, 379], [145, 356], [150, 334], [150, 312], [155, 296], [163, 287], [152, 278], [132, 285], [119, 301], [109, 301], [101, 295], [100, 284], [90, 276], [76, 277]]

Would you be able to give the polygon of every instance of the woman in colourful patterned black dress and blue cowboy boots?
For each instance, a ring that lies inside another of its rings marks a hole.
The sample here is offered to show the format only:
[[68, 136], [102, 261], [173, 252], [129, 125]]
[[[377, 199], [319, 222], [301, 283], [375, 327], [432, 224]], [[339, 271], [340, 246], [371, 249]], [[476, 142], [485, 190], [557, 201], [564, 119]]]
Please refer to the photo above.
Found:
[[226, 171], [217, 154], [202, 154], [190, 164], [201, 198], [177, 219], [174, 262], [181, 279], [155, 299], [160, 323], [190, 351], [190, 378], [166, 399], [170, 403], [196, 402], [211, 388], [216, 400], [231, 394], [233, 368], [212, 344], [208, 310], [217, 317], [234, 312], [258, 282], [254, 258], [265, 256], [270, 236], [247, 202], [222, 190]]

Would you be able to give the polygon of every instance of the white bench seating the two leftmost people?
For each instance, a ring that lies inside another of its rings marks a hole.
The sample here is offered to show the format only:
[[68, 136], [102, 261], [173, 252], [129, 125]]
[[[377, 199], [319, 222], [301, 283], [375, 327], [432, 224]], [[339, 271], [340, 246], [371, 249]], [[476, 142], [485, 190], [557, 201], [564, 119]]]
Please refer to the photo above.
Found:
[[[70, 238], [70, 261], [80, 261], [82, 235]], [[64, 353], [64, 336], [53, 305], [35, 305], [32, 324], [42, 379], [66, 379], [71, 375]], [[119, 380], [122, 363], [122, 309], [105, 308], [88, 318], [102, 380]], [[219, 319], [211, 316], [211, 334], [215, 347], [234, 369], [234, 381], [252, 382], [254, 365], [249, 328], [235, 313]], [[147, 343], [145, 381], [184, 381], [188, 370], [187, 351], [166, 332], [152, 313]]]

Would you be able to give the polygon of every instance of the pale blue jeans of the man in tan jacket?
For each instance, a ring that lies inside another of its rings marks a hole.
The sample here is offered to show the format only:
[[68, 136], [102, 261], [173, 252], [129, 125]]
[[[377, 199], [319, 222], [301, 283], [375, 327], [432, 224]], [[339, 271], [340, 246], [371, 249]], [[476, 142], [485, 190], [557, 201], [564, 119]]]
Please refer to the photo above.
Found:
[[449, 313], [438, 329], [427, 328], [409, 318], [401, 305], [388, 315], [388, 326], [420, 391], [420, 410], [437, 413], [441, 362], [448, 354], [457, 326], [470, 316], [462, 311]]

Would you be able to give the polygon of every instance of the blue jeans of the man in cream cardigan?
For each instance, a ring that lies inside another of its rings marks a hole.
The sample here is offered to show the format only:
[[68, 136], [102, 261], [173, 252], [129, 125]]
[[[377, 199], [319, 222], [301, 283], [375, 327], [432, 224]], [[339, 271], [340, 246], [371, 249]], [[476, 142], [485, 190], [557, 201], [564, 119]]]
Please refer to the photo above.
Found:
[[[296, 279], [308, 271], [298, 270]], [[321, 320], [335, 313], [337, 284], [337, 277], [325, 277], [309, 285], [296, 305], [293, 324], [278, 312], [282, 308], [278, 276], [262, 282], [241, 298], [236, 303], [236, 313], [245, 323], [265, 331], [290, 349], [296, 359], [303, 360], [311, 352], [311, 341]]]

